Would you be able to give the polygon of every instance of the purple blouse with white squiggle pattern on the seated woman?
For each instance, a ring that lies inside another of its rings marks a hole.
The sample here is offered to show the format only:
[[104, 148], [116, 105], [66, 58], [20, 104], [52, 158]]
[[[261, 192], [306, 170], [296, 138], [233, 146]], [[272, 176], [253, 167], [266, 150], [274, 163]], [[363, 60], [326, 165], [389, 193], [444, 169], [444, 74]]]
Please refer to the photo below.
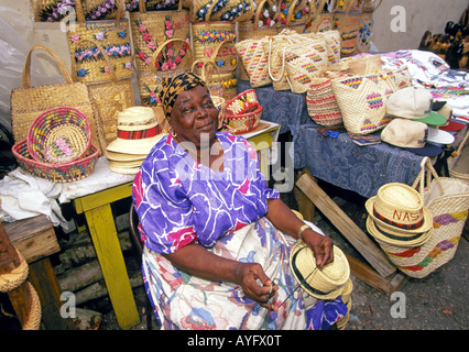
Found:
[[194, 240], [212, 248], [223, 235], [262, 218], [266, 200], [279, 198], [246, 139], [223, 132], [217, 138], [225, 152], [222, 172], [195, 162], [171, 134], [142, 163], [132, 196], [150, 250], [170, 254]]

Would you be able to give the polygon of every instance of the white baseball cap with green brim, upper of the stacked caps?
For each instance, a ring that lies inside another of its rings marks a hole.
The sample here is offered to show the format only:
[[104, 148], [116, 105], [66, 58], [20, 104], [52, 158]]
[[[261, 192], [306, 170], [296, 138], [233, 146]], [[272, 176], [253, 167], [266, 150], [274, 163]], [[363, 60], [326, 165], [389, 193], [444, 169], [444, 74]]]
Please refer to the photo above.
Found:
[[421, 121], [426, 124], [441, 125], [446, 118], [432, 110], [433, 96], [419, 87], [405, 87], [393, 92], [388, 99], [388, 114], [396, 118]]

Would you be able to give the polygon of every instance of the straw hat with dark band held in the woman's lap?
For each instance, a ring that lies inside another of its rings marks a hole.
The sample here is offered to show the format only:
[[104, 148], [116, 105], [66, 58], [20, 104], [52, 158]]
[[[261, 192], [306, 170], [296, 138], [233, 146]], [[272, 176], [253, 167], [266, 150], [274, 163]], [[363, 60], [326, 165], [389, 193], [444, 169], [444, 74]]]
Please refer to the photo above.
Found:
[[350, 277], [350, 266], [343, 252], [336, 245], [334, 262], [317, 268], [313, 251], [298, 242], [290, 255], [290, 267], [296, 282], [313, 297], [335, 299], [342, 294]]

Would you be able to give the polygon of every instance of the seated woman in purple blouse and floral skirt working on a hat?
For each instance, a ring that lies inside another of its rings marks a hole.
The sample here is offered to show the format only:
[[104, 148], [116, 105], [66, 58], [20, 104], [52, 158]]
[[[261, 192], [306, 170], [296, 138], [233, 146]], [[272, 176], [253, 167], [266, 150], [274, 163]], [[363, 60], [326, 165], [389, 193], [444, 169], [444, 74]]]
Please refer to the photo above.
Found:
[[205, 82], [190, 73], [166, 79], [161, 101], [171, 133], [143, 162], [132, 195], [162, 329], [316, 329], [343, 317], [340, 297], [327, 305], [303, 289], [288, 297], [297, 239], [319, 267], [334, 261], [332, 242], [268, 187], [247, 140], [217, 132]]

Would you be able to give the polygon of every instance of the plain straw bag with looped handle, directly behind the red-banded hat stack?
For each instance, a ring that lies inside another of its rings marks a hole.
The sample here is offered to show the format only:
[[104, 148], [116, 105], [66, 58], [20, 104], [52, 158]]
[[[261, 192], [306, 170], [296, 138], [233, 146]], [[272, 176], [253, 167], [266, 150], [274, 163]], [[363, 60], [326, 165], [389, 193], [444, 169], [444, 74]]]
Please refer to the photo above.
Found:
[[[81, 42], [90, 42], [103, 52], [103, 48], [96, 42], [88, 40]], [[105, 59], [108, 67], [112, 67], [109, 57], [105, 56]], [[89, 97], [91, 98], [96, 120], [99, 125], [99, 143], [102, 150], [106, 150], [106, 146], [116, 136], [117, 113], [133, 107], [135, 103], [131, 79], [124, 78], [118, 80], [113, 68], [110, 68], [109, 74], [111, 75], [111, 81], [88, 85]]]

